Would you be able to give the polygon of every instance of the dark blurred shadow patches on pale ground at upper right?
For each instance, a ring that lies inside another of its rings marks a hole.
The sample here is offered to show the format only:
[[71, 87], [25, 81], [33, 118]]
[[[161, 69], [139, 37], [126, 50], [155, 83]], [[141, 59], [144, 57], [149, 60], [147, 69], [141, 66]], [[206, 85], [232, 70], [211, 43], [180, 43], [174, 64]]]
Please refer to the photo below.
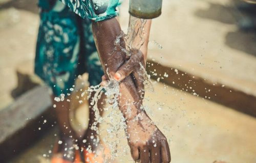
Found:
[[[199, 9], [195, 12], [195, 15], [203, 19], [210, 19], [221, 23], [236, 25], [238, 25], [238, 22], [241, 19], [254, 19], [251, 14], [243, 13], [242, 11], [238, 10], [237, 7], [234, 7], [235, 4], [237, 3], [234, 3], [233, 1], [230, 1], [229, 6], [209, 3], [208, 9]], [[256, 15], [254, 14], [254, 16]], [[241, 30], [230, 31], [226, 34], [225, 38], [225, 43], [227, 46], [244, 51], [248, 55], [256, 57], [255, 32], [243, 32]]]

